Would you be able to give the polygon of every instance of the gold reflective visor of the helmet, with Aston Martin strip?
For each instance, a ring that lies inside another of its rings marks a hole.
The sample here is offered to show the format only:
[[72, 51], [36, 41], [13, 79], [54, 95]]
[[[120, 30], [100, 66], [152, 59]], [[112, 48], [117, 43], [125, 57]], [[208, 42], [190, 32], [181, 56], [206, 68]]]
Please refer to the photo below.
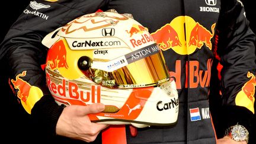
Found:
[[85, 76], [103, 87], [149, 87], [169, 80], [164, 57], [156, 44], [143, 47], [110, 62], [92, 64], [89, 72], [84, 72]]

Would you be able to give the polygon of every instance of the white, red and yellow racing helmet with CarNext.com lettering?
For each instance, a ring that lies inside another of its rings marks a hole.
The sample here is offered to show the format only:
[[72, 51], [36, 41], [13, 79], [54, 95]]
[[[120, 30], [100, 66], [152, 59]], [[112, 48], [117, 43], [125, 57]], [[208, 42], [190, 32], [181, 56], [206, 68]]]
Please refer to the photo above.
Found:
[[148, 28], [113, 9], [75, 18], [44, 37], [47, 86], [61, 105], [105, 104], [93, 122], [171, 125], [178, 94]]

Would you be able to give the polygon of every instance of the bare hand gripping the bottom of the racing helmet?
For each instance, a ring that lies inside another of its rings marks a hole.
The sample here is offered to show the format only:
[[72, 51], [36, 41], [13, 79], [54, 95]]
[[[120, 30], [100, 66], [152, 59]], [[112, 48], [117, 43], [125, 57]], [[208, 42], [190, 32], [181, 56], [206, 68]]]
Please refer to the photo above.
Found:
[[88, 106], [69, 105], [65, 107], [57, 121], [56, 133], [72, 139], [92, 142], [107, 124], [92, 123], [87, 114], [100, 113], [104, 104], [91, 104]]

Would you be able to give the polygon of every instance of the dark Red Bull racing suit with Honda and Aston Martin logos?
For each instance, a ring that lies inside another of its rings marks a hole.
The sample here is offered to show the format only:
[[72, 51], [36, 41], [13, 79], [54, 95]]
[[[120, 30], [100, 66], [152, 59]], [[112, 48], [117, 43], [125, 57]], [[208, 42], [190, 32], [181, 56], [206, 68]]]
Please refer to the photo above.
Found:
[[[220, 79], [221, 105], [225, 111], [223, 129], [236, 123], [250, 129], [256, 85], [255, 36], [241, 2], [36, 0], [30, 2], [10, 28], [1, 43], [0, 55], [9, 63], [15, 94], [24, 94], [18, 95], [21, 104], [42, 124], [48, 124], [52, 134], [63, 108], [55, 103], [46, 87], [41, 65], [45, 63], [47, 49], [41, 40], [74, 18], [98, 9], [132, 14], [147, 27], [162, 49], [169, 74], [177, 85], [180, 103], [177, 124], [138, 129], [136, 137], [127, 132], [128, 143], [216, 143], [208, 100], [212, 63], [216, 58], [223, 66]], [[24, 87], [40, 89], [29, 95], [33, 97], [30, 104], [25, 103], [29, 98], [25, 88], [16, 85], [20, 81]]]

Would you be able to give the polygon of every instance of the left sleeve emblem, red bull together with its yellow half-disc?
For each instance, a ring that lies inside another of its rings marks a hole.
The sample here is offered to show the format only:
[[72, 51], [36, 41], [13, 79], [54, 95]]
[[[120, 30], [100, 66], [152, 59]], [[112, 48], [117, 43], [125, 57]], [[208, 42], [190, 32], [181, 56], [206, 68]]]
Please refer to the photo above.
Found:
[[16, 80], [11, 79], [11, 82], [14, 88], [18, 89], [17, 97], [20, 98], [21, 104], [27, 113], [30, 114], [34, 104], [43, 97], [43, 92], [40, 88], [31, 86], [28, 82], [20, 78], [24, 77], [26, 74], [27, 71], [23, 71], [16, 76]]

